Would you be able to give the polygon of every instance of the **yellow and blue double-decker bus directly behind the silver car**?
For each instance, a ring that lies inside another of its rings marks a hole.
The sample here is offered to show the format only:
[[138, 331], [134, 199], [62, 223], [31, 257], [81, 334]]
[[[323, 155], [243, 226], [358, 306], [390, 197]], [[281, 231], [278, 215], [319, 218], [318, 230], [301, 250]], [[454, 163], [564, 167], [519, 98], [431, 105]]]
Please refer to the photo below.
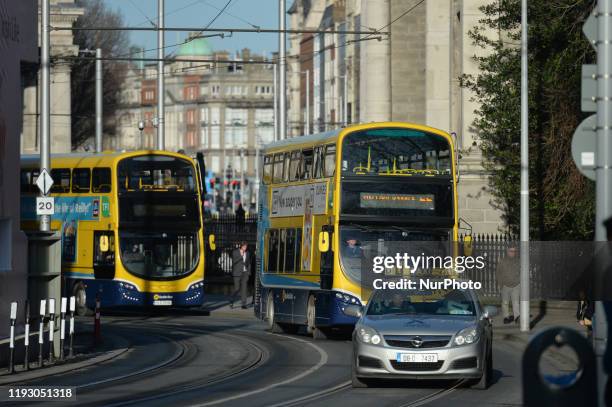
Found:
[[457, 239], [455, 151], [444, 131], [356, 125], [271, 143], [263, 159], [256, 310], [273, 330], [324, 337], [354, 325], [343, 310], [367, 300], [364, 251]]

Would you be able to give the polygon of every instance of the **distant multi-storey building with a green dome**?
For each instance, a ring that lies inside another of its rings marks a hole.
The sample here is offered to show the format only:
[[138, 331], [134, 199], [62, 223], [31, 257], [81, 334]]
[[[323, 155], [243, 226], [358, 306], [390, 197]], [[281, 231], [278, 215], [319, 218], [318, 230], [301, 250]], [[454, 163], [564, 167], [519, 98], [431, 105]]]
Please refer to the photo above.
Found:
[[[247, 184], [241, 199], [254, 206], [248, 186], [257, 185], [259, 148], [274, 140], [272, 65], [248, 49], [235, 56], [213, 51], [205, 38], [186, 42], [176, 56], [181, 61], [166, 64], [164, 73], [166, 149], [202, 152], [215, 179]], [[230, 60], [237, 62], [223, 62]], [[117, 134], [107, 137], [105, 147], [155, 148], [157, 97], [157, 65], [132, 66], [116, 114]]]

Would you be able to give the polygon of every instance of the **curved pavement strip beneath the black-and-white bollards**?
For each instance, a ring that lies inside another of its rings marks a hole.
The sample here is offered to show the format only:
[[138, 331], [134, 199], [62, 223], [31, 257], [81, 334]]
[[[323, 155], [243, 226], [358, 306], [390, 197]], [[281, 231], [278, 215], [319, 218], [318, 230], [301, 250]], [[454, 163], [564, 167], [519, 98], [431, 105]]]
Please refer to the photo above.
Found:
[[[81, 325], [81, 324], [79, 324]], [[77, 325], [77, 329], [78, 329]], [[7, 384], [19, 384], [30, 380], [39, 379], [46, 376], [53, 376], [61, 373], [70, 372], [77, 369], [93, 366], [99, 363], [114, 359], [129, 351], [129, 343], [120, 336], [105, 333], [103, 342], [95, 349], [92, 347], [93, 332], [87, 330], [91, 328], [91, 324], [81, 325], [80, 331], [74, 338], [74, 357], [62, 361], [57, 360], [54, 364], [48, 364], [48, 349], [49, 344], [45, 341], [43, 348], [43, 367], [38, 367], [38, 361], [30, 362], [30, 370], [26, 371], [23, 367], [23, 359], [16, 360], [15, 373], [8, 374], [7, 366], [3, 366], [0, 371], [0, 386]], [[35, 341], [30, 340], [31, 348], [36, 348], [38, 353], [38, 338]], [[31, 349], [33, 350], [33, 349]], [[66, 357], [67, 357], [66, 348]]]

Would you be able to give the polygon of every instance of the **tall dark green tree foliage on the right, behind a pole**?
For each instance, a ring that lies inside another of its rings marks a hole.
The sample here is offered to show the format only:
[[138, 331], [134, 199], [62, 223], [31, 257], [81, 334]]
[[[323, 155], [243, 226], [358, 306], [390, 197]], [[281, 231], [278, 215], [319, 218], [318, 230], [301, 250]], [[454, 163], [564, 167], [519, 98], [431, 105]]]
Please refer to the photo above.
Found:
[[[532, 238], [590, 239], [594, 183], [571, 157], [580, 111], [581, 65], [595, 53], [582, 33], [594, 6], [583, 0], [530, 0], [529, 177]], [[479, 103], [473, 123], [495, 204], [513, 233], [520, 212], [520, 0], [483, 6], [485, 17], [470, 32], [480, 49], [479, 74], [461, 78]]]

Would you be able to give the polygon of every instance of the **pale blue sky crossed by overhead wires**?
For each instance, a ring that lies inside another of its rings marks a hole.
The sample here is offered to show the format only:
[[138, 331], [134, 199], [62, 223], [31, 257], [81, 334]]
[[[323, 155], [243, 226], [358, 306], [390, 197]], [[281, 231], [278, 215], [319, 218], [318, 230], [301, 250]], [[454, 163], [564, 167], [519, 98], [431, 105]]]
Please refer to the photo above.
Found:
[[[219, 16], [211, 28], [278, 28], [278, 0], [165, 0], [166, 27], [204, 27], [230, 1], [226, 12]], [[157, 22], [157, 0], [104, 0], [112, 10], [118, 11], [126, 26], [146, 27]], [[287, 8], [291, 1], [287, 0]], [[166, 33], [166, 46], [180, 43], [187, 37], [187, 32]], [[144, 46], [145, 49], [157, 47], [155, 31], [132, 31], [132, 45]], [[243, 33], [234, 34], [231, 38], [209, 38], [214, 50], [239, 51], [250, 48], [257, 54], [270, 56], [278, 48], [278, 34]], [[167, 54], [176, 47], [168, 47]], [[156, 57], [156, 51], [147, 56]]]

